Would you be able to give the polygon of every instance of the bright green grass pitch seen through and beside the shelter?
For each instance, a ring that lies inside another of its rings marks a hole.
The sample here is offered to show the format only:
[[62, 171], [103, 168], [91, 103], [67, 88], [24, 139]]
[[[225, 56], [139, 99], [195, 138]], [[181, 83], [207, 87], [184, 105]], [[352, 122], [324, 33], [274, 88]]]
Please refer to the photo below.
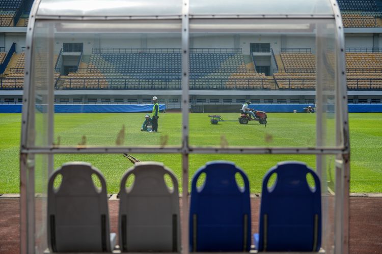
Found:
[[[224, 119], [237, 119], [237, 113], [224, 113]], [[125, 128], [124, 145], [179, 145], [181, 114], [161, 114], [159, 133], [140, 132], [142, 113], [130, 114], [57, 114], [55, 140], [60, 145], [115, 145], [118, 133]], [[19, 141], [21, 114], [0, 114], [0, 194], [19, 193]], [[189, 142], [193, 145], [223, 146], [312, 146], [315, 143], [315, 114], [269, 113], [266, 127], [257, 122], [209, 123], [207, 114], [190, 114]], [[333, 142], [333, 119], [328, 120], [329, 142]], [[351, 145], [351, 192], [382, 192], [382, 113], [352, 113], [349, 115]], [[37, 122], [38, 124], [38, 122]], [[40, 142], [42, 133], [37, 133]], [[181, 186], [181, 156], [179, 154], [132, 154], [141, 161], [163, 162], [171, 168]], [[41, 156], [39, 156], [41, 157]], [[41, 161], [37, 157], [37, 164]], [[277, 162], [298, 160], [315, 168], [313, 155], [229, 155], [193, 154], [189, 157], [190, 178], [208, 161], [235, 162], [249, 176], [251, 192], [259, 193], [264, 173]], [[101, 170], [106, 178], [107, 192], [117, 193], [119, 182], [132, 164], [121, 154], [59, 154], [54, 167], [68, 161], [86, 161]], [[333, 156], [328, 163], [333, 164]], [[333, 169], [332, 169], [333, 170]], [[330, 171], [328, 181], [332, 181]], [[36, 172], [36, 181], [45, 178]], [[36, 189], [38, 192], [38, 189]]]

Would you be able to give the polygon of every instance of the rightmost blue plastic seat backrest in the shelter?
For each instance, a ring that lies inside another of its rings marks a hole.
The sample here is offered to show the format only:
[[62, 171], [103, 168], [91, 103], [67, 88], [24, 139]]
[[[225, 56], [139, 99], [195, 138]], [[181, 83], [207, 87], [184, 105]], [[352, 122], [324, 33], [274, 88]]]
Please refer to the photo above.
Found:
[[[272, 174], [277, 178], [268, 188]], [[310, 187], [311, 174], [315, 187]], [[321, 187], [317, 174], [304, 163], [283, 162], [264, 176], [259, 251], [318, 251], [321, 245]]]

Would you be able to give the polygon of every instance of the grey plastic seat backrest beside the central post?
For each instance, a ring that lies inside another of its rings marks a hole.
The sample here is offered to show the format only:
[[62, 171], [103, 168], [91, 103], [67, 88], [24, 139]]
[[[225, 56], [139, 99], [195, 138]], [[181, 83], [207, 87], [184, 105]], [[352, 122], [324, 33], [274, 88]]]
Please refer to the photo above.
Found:
[[[126, 181], [134, 182], [126, 188]], [[172, 181], [170, 189], [165, 175]], [[178, 180], [161, 163], [139, 162], [123, 175], [119, 206], [122, 251], [180, 251]]]

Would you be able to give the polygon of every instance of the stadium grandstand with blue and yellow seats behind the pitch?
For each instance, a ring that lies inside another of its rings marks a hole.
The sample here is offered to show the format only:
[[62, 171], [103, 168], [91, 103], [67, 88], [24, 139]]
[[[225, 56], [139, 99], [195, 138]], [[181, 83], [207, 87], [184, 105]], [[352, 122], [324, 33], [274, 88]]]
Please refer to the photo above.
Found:
[[[0, 4], [0, 104], [21, 103], [25, 26], [32, 3], [5, 0]], [[382, 1], [339, 0], [338, 4], [345, 26], [349, 103], [380, 103]], [[55, 89], [61, 91], [56, 98], [58, 104], [143, 103], [145, 98], [122, 98], [120, 91], [181, 89], [181, 53], [176, 43], [174, 47], [162, 48], [149, 38], [141, 38], [140, 43], [131, 46], [126, 46], [123, 39], [113, 44], [77, 40], [72, 36], [56, 42], [53, 79]], [[190, 48], [189, 88], [195, 90], [193, 104], [237, 105], [248, 96], [261, 104], [314, 104], [310, 91], [316, 85], [316, 44], [309, 35], [262, 36], [261, 42], [260, 38], [248, 40], [240, 35], [224, 37], [217, 44], [208, 43], [208, 38], [199, 40], [195, 37], [194, 47]], [[148, 44], [153, 46], [147, 47]], [[326, 61], [333, 63], [334, 56], [328, 53]], [[99, 90], [100, 94], [101, 90], [115, 92], [76, 98], [76, 91], [84, 89]], [[213, 93], [203, 95], [205, 91], [222, 90], [233, 93], [225, 98]], [[271, 98], [263, 95], [267, 90], [273, 92]], [[238, 93], [234, 91], [249, 93], [235, 96]], [[179, 95], [163, 96], [161, 100], [169, 108], [180, 107]]]

